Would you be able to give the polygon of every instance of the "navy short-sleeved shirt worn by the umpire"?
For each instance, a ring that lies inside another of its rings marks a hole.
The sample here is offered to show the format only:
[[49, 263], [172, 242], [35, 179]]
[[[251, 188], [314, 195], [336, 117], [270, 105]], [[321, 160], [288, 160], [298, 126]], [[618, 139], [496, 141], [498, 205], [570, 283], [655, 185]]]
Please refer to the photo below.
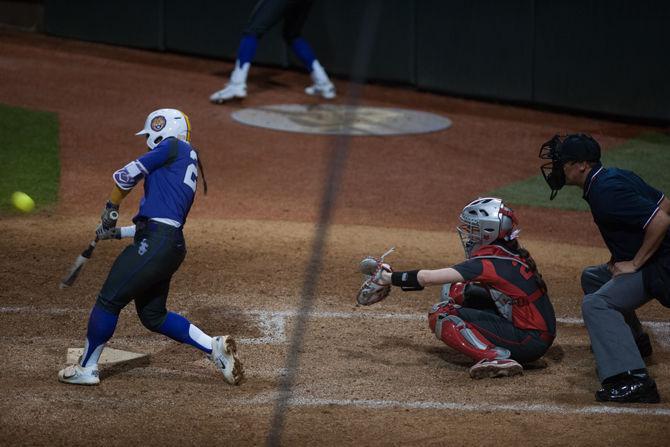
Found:
[[[630, 261], [642, 246], [649, 222], [664, 194], [634, 172], [595, 165], [584, 183], [584, 200], [614, 262]], [[652, 259], [670, 256], [670, 233]]]

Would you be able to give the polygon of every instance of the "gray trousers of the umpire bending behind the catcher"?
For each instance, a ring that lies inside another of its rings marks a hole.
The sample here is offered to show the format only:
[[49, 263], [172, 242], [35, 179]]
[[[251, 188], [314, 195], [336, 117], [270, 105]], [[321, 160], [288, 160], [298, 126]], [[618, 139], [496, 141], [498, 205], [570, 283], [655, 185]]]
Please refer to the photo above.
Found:
[[582, 315], [600, 381], [645, 368], [635, 343], [635, 338], [642, 334], [635, 309], [650, 300], [644, 291], [642, 272], [613, 278], [607, 264], [586, 267], [582, 272], [582, 290]]

